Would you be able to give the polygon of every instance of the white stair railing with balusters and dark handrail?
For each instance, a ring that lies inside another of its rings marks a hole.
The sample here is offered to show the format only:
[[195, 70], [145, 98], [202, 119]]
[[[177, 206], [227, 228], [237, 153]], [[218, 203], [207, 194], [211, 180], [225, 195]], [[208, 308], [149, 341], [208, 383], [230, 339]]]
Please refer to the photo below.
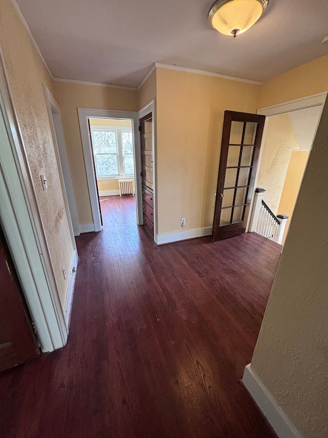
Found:
[[257, 187], [255, 189], [249, 231], [281, 244], [288, 216], [276, 216], [263, 201], [264, 192], [264, 188]]

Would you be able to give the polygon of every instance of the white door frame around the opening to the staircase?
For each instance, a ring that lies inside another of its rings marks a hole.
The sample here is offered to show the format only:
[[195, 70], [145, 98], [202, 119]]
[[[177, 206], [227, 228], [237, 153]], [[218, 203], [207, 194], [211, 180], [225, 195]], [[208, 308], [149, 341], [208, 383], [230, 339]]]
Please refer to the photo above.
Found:
[[[283, 114], [285, 112], [297, 111], [299, 109], [314, 108], [316, 106], [321, 106], [321, 113], [322, 113], [323, 105], [325, 103], [327, 94], [328, 94], [328, 91], [323, 91], [321, 93], [312, 94], [311, 96], [305, 96], [303, 98], [294, 99], [294, 100], [287, 101], [287, 102], [282, 102], [282, 103], [279, 103], [276, 105], [267, 106], [265, 108], [259, 108], [257, 110], [257, 114], [260, 114], [262, 116], [267, 116], [267, 117], [265, 118], [265, 123], [264, 123], [263, 136], [262, 136], [262, 142], [261, 142], [261, 148], [260, 148], [260, 156], [258, 158], [258, 164], [257, 164], [257, 169], [256, 169], [254, 189], [253, 189], [252, 200], [251, 200], [251, 205], [250, 205], [250, 212], [252, 212], [252, 209], [253, 209], [254, 198], [255, 198], [255, 189], [257, 187], [258, 176], [259, 176], [259, 172], [260, 172], [260, 168], [261, 168], [262, 153], [263, 153], [263, 148], [264, 148], [265, 137], [267, 135], [269, 117], [270, 116], [277, 116], [277, 115]], [[319, 117], [319, 120], [317, 123], [317, 129], [318, 129], [319, 122], [321, 119], [321, 113], [320, 113], [320, 117]], [[315, 137], [315, 135], [314, 135], [314, 137]], [[250, 223], [251, 223], [251, 215], [249, 215], [249, 218], [248, 218], [248, 223], [246, 226], [246, 233], [249, 232]]]

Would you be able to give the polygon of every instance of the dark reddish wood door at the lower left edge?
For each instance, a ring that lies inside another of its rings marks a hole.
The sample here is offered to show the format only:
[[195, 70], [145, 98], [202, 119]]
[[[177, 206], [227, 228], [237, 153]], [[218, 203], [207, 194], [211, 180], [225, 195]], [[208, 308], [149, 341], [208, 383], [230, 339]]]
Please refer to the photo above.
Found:
[[0, 371], [39, 355], [4, 234], [0, 228]]

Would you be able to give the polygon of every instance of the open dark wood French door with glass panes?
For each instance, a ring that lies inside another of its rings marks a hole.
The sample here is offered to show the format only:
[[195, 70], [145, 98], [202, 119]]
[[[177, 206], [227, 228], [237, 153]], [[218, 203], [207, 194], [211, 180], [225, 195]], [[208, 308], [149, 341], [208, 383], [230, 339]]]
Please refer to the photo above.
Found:
[[265, 116], [224, 112], [213, 241], [245, 232], [264, 121]]

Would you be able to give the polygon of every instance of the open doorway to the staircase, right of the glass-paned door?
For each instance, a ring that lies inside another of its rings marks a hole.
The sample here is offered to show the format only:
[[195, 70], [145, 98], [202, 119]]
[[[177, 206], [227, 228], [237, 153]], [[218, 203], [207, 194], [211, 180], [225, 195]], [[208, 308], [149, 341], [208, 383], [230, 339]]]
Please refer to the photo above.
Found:
[[[263, 192], [261, 202], [266, 207], [262, 207], [264, 215], [268, 216], [269, 210], [270, 219], [285, 218], [280, 238], [276, 240], [282, 245], [288, 233], [325, 98], [326, 93], [321, 93], [258, 111], [266, 115], [267, 120], [256, 186]], [[254, 207], [253, 213], [255, 210]], [[263, 212], [259, 213], [260, 216]], [[253, 218], [252, 214], [249, 230], [259, 234], [262, 234], [261, 230], [264, 230], [262, 235], [268, 237], [265, 226], [259, 225], [261, 223], [262, 225], [268, 224], [265, 218]], [[269, 238], [273, 238], [271, 233], [269, 235]]]

